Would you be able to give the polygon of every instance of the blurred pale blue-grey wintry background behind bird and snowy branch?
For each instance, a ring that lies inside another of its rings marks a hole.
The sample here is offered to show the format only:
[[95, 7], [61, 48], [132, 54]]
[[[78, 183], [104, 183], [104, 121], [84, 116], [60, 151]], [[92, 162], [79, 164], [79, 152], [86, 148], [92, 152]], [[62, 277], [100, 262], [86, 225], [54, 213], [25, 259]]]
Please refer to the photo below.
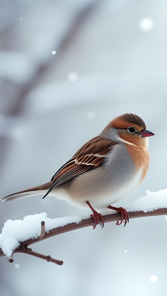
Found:
[[[0, 197], [50, 181], [125, 112], [142, 117], [155, 136], [144, 183], [118, 205], [165, 189], [166, 36], [164, 0], [1, 0]], [[35, 196], [1, 203], [0, 228], [43, 211], [51, 218], [85, 214]], [[166, 234], [159, 216], [47, 239], [33, 250], [64, 265], [24, 254], [12, 264], [0, 258], [1, 295], [166, 295]]]

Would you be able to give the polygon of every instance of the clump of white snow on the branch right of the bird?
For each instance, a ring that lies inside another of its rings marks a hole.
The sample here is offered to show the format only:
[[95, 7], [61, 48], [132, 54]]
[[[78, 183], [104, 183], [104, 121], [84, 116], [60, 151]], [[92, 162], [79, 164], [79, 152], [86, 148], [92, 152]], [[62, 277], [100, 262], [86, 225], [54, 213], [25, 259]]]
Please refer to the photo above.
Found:
[[158, 192], [147, 190], [146, 193], [146, 196], [140, 197], [127, 206], [126, 210], [128, 212], [144, 211], [144, 213], [147, 213], [160, 208], [167, 208], [167, 189]]

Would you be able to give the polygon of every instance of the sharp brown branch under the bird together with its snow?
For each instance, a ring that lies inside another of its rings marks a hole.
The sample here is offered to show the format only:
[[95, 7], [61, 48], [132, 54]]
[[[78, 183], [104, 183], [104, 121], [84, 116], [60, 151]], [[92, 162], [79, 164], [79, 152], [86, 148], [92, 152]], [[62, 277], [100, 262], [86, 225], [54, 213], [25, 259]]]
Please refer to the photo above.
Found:
[[[147, 196], [139, 198], [126, 207], [129, 218], [167, 215], [166, 197], [167, 189], [159, 192], [147, 191]], [[106, 211], [101, 213], [105, 223], [121, 219], [121, 214], [105, 215]], [[51, 219], [47, 218], [45, 213], [25, 216], [23, 220], [7, 220], [0, 234], [0, 257], [7, 255], [9, 262], [12, 263], [13, 254], [21, 252], [62, 265], [63, 261], [33, 252], [28, 246], [61, 233], [93, 226], [93, 224], [92, 218], [82, 219], [79, 216], [71, 216]]]

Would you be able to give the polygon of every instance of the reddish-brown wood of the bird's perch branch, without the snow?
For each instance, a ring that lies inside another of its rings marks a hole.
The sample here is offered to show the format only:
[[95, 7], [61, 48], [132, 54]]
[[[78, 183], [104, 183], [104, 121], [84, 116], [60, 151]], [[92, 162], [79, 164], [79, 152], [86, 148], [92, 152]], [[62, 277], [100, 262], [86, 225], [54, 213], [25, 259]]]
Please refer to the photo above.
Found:
[[[167, 208], [153, 210], [152, 212], [147, 212], [147, 213], [145, 213], [143, 211], [129, 212], [130, 219], [149, 217], [149, 216], [159, 216], [159, 215], [167, 215]], [[118, 215], [111, 214], [111, 215], [105, 215], [103, 217], [104, 217], [104, 223], [121, 220], [120, 213]], [[56, 263], [58, 265], [62, 265], [63, 261], [56, 260], [50, 256], [46, 256], [46, 255], [42, 255], [42, 254], [33, 252], [30, 248], [28, 248], [28, 246], [31, 244], [35, 244], [36, 242], [40, 242], [40, 241], [47, 239], [49, 237], [53, 237], [58, 234], [62, 234], [62, 233], [68, 232], [68, 231], [84, 228], [87, 226], [93, 226], [93, 225], [94, 225], [94, 219], [89, 218], [89, 219], [81, 220], [78, 224], [77, 223], [69, 223], [65, 226], [57, 227], [57, 228], [54, 228], [48, 232], [45, 232], [45, 222], [41, 221], [41, 235], [39, 237], [37, 237], [36, 239], [31, 238], [31, 239], [27, 239], [24, 242], [20, 242], [20, 246], [17, 247], [15, 250], [13, 250], [13, 253], [25, 253], [25, 254], [29, 254], [29, 255], [44, 259], [48, 262], [50, 261], [50, 262]], [[0, 249], [0, 257], [2, 257], [2, 256], [5, 256], [5, 255], [4, 255], [3, 251]], [[13, 262], [13, 254], [8, 258], [8, 260], [11, 263]]]

